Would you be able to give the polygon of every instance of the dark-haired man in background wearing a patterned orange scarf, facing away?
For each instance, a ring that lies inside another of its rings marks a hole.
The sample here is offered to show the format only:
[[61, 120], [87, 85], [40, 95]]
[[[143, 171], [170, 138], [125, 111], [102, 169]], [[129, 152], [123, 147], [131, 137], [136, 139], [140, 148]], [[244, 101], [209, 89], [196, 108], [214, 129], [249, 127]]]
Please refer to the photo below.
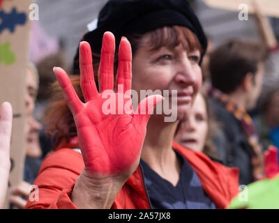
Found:
[[261, 93], [265, 59], [260, 45], [244, 40], [229, 40], [210, 56], [210, 108], [223, 125], [225, 164], [239, 167], [242, 185], [264, 177], [262, 147], [247, 111]]

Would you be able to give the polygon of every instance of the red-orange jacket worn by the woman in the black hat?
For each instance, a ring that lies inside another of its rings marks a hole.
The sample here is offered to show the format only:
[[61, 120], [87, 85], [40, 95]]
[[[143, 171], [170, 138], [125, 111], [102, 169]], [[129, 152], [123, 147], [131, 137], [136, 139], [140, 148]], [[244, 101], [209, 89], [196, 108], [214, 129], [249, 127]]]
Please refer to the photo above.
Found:
[[[72, 149], [74, 147], [78, 148], [77, 138], [73, 138], [70, 145], [59, 146], [45, 158], [34, 182], [39, 188], [39, 199], [28, 199], [25, 208], [77, 208], [70, 200], [70, 194], [75, 180], [84, 169], [84, 162], [82, 155]], [[175, 142], [173, 148], [186, 157], [216, 207], [227, 207], [239, 192], [239, 170], [213, 162], [204, 153], [190, 151]], [[147, 196], [142, 171], [137, 167], [121, 188], [112, 208], [150, 208]]]

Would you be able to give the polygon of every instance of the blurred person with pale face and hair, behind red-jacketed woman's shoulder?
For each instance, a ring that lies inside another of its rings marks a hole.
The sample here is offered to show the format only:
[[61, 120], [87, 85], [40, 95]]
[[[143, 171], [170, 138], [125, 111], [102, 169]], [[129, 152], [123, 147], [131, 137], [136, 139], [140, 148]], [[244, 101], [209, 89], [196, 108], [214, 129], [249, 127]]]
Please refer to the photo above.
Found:
[[211, 140], [214, 135], [213, 125], [216, 123], [209, 113], [206, 98], [198, 93], [190, 114], [186, 120], [180, 121], [174, 140], [185, 148], [203, 152], [211, 159], [218, 160], [218, 151]]

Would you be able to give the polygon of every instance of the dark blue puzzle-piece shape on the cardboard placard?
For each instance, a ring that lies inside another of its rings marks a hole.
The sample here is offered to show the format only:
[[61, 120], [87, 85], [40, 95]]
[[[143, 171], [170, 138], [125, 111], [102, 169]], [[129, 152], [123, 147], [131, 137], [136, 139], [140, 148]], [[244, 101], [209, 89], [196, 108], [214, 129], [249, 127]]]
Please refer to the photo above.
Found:
[[0, 10], [0, 33], [4, 29], [10, 29], [10, 32], [13, 33], [16, 25], [23, 25], [25, 22], [27, 22], [27, 15], [17, 13], [16, 8], [13, 8], [10, 13]]

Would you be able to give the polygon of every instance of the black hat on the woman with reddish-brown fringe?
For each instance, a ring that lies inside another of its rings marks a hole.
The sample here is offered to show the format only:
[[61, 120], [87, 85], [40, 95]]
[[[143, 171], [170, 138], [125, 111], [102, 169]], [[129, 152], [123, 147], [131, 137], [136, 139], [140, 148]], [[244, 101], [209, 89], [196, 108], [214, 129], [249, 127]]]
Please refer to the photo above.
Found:
[[[117, 46], [122, 36], [128, 38], [163, 26], [174, 25], [186, 26], [193, 31], [204, 53], [206, 52], [206, 36], [197, 16], [186, 0], [109, 0], [100, 10], [97, 28], [86, 33], [82, 41], [88, 42], [92, 51], [100, 54], [103, 34], [106, 31], [114, 33]], [[77, 49], [74, 70], [79, 68], [78, 61], [79, 50]]]

